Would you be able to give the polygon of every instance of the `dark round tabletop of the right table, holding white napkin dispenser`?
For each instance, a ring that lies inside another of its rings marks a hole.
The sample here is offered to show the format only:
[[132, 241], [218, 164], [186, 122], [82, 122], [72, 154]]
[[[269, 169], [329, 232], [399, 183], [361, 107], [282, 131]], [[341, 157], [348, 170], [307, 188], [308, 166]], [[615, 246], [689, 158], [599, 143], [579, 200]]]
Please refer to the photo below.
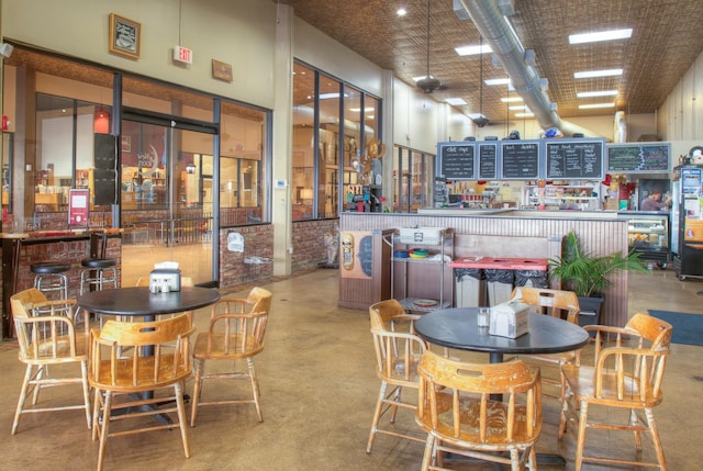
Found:
[[556, 354], [577, 350], [589, 341], [589, 334], [576, 324], [545, 314], [529, 314], [529, 333], [517, 338], [490, 335], [479, 329], [477, 307], [433, 311], [415, 321], [417, 335], [431, 344], [459, 350], [489, 354]]

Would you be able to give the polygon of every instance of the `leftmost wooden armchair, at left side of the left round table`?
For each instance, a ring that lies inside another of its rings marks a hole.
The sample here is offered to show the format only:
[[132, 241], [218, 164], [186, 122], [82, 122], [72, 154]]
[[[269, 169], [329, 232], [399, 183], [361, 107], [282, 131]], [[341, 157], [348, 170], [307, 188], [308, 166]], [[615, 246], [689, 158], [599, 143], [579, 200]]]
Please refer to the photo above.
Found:
[[[44, 293], [36, 288], [30, 288], [10, 296], [10, 305], [20, 347], [19, 358], [26, 365], [12, 423], [12, 435], [16, 433], [23, 414], [65, 410], [83, 410], [88, 428], [90, 428], [89, 324], [87, 319], [78, 318], [79, 313], [75, 309], [76, 300], [47, 301]], [[72, 309], [67, 312], [66, 305]], [[34, 311], [40, 311], [42, 314], [34, 315]], [[80, 368], [80, 374], [60, 378], [49, 374], [49, 366], [68, 363], [76, 363]], [[82, 404], [37, 406], [42, 389], [59, 385], [80, 385]], [[27, 407], [26, 399], [30, 395], [33, 396], [32, 406]]]

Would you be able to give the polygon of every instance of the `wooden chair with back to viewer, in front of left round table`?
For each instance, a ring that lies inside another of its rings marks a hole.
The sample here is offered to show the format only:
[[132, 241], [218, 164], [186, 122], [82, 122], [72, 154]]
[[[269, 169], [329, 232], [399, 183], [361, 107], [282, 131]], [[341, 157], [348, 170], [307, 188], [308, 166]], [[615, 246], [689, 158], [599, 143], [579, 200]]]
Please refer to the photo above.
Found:
[[[101, 330], [91, 330], [88, 380], [94, 388], [92, 437], [100, 439], [98, 471], [109, 437], [179, 428], [183, 452], [190, 457], [183, 383], [192, 374], [192, 332], [183, 315], [155, 322], [108, 321]], [[170, 389], [172, 393], [163, 394]], [[172, 413], [176, 419], [157, 420], [156, 416]]]

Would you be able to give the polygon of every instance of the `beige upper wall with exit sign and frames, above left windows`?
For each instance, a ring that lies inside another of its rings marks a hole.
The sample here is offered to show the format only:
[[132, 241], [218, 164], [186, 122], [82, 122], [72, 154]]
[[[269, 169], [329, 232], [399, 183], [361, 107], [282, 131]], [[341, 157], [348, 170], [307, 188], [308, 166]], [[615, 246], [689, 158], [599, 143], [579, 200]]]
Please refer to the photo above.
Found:
[[[7, 38], [274, 108], [276, 3], [271, 1], [5, 0], [2, 10]], [[142, 24], [138, 60], [108, 52], [111, 12]], [[172, 61], [179, 43], [193, 51], [192, 65]], [[232, 65], [232, 83], [212, 78], [213, 58]]]

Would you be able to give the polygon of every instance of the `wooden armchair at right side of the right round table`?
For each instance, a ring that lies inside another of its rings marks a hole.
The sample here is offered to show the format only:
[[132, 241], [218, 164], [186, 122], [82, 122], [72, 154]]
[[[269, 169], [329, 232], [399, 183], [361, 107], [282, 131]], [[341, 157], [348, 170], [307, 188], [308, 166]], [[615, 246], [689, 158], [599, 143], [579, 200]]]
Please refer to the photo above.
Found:
[[[585, 329], [595, 334], [593, 367], [561, 367], [565, 393], [561, 399], [559, 439], [567, 429], [574, 436], [576, 470], [580, 471], [583, 462], [601, 466], [633, 464], [666, 470], [654, 407], [663, 399], [661, 385], [670, 352], [671, 325], [647, 314], [635, 314], [625, 327], [599, 325], [587, 326]], [[593, 419], [589, 414], [595, 407], [626, 410], [627, 418], [620, 417], [614, 411], [606, 411], [601, 416], [602, 420]], [[623, 420], [618, 423], [618, 418]], [[649, 433], [657, 462], [587, 457], [584, 445], [589, 429], [633, 431], [638, 451], [641, 451], [641, 434]]]

